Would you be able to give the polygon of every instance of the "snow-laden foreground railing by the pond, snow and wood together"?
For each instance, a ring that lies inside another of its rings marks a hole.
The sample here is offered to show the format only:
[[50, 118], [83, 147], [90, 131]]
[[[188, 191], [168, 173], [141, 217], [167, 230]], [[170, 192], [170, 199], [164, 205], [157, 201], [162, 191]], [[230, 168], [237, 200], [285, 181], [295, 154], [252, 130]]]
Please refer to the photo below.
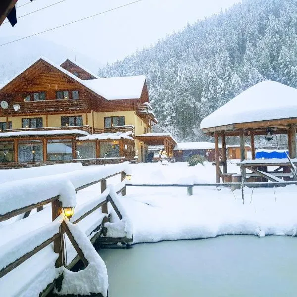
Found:
[[[89, 293], [100, 293], [104, 297], [107, 296], [108, 279], [104, 262], [92, 246], [87, 235], [80, 231], [78, 226], [71, 224], [61, 213], [62, 207], [76, 206], [77, 191], [100, 182], [101, 195], [81, 204], [77, 209], [78, 211], [71, 218], [71, 221], [77, 223], [99, 207], [101, 207], [102, 213], [105, 213], [107, 216], [107, 202], [112, 200], [111, 205], [115, 208], [122, 222], [117, 222], [114, 227], [112, 225], [113, 223], [108, 223], [107, 233], [109, 231], [108, 234], [110, 234], [112, 228], [114, 230], [119, 230], [120, 228], [122, 230], [121, 234], [125, 236], [125, 239], [127, 241], [129, 239], [131, 240], [133, 237], [131, 223], [128, 221], [127, 215], [117, 199], [114, 188], [106, 188], [107, 178], [121, 174], [122, 182], [116, 185], [115, 188], [118, 193], [121, 192], [122, 195], [126, 194], [124, 179], [126, 173], [130, 174], [127, 165], [128, 162], [125, 162], [57, 174], [55, 176], [44, 176], [3, 183], [0, 189], [0, 221], [7, 220], [27, 211], [30, 213], [36, 207], [51, 203], [53, 222], [20, 237], [18, 243], [10, 241], [1, 246], [0, 278], [53, 242], [53, 250], [58, 254], [55, 267], [59, 268], [58, 275], [63, 274], [62, 286], [58, 288], [58, 291], [61, 294], [84, 295], [87, 293], [86, 290], [88, 290]], [[119, 209], [124, 214], [123, 216], [119, 213]], [[85, 272], [78, 272], [79, 276], [63, 268], [65, 267], [63, 232], [67, 233], [73, 247], [85, 263], [85, 266], [87, 266], [83, 270]], [[84, 285], [79, 288], [76, 285], [72, 289], [69, 289], [69, 286], [74, 286], [75, 275], [84, 280], [96, 279], [97, 283], [94, 285], [94, 282], [86, 281], [85, 285], [88, 284], [88, 286]]]

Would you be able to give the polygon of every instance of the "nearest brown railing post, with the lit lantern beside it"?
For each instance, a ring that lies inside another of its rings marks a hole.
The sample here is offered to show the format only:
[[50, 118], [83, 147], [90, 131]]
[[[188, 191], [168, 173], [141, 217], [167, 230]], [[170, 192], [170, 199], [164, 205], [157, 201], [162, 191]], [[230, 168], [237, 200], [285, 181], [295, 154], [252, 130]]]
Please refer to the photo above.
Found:
[[[52, 221], [54, 221], [62, 211], [61, 202], [56, 199], [51, 202], [51, 218]], [[53, 251], [59, 254], [59, 257], [57, 258], [55, 262], [55, 267], [61, 267], [65, 266], [65, 258], [64, 258], [64, 237], [63, 237], [63, 229], [60, 226], [59, 235], [54, 241], [53, 241]]]

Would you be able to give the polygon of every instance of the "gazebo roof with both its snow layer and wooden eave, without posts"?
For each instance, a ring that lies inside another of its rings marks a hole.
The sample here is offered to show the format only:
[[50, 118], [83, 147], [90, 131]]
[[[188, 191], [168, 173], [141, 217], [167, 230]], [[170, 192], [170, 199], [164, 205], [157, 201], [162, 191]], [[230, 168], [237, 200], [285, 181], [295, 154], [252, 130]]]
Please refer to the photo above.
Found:
[[268, 80], [248, 88], [205, 117], [200, 128], [210, 135], [222, 131], [238, 135], [240, 129], [250, 128], [255, 129], [255, 135], [262, 135], [267, 127], [282, 133], [279, 130], [296, 123], [297, 89]]

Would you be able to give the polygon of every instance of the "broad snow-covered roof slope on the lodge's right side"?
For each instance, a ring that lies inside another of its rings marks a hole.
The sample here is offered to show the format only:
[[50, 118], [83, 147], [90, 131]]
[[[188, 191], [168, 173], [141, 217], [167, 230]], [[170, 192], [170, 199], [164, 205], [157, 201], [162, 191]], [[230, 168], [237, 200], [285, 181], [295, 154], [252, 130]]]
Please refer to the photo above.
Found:
[[139, 99], [146, 77], [124, 76], [83, 80], [83, 84], [107, 100]]

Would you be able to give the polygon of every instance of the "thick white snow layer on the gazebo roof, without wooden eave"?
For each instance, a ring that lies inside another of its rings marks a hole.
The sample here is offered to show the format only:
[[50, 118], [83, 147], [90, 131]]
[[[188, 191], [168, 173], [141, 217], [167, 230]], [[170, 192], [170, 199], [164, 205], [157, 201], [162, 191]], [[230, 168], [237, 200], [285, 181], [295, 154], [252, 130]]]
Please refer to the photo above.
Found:
[[201, 129], [237, 123], [297, 117], [297, 89], [260, 82], [205, 117]]

